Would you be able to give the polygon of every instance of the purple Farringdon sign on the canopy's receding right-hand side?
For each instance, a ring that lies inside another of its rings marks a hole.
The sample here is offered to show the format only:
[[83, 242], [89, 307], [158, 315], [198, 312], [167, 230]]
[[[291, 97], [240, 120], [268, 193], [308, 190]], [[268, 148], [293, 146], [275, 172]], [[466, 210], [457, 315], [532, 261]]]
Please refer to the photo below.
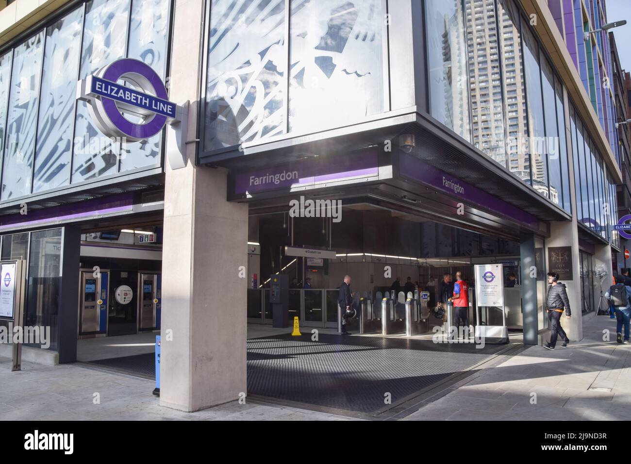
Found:
[[437, 190], [452, 194], [463, 201], [475, 203], [493, 211], [493, 213], [499, 213], [512, 220], [528, 224], [530, 227], [537, 226], [538, 220], [533, 215], [478, 189], [478, 187], [467, 184], [451, 174], [436, 169], [413, 155], [408, 155], [407, 153], [399, 155], [399, 173], [401, 177], [421, 182]]

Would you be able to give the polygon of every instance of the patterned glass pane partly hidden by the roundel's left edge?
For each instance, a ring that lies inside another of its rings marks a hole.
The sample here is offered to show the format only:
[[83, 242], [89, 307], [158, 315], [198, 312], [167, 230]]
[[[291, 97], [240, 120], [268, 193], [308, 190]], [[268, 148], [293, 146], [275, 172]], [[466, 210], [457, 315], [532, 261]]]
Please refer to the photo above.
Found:
[[[86, 4], [80, 78], [125, 56], [129, 0], [93, 0]], [[93, 124], [85, 102], [77, 102], [72, 182], [117, 172], [117, 145]]]

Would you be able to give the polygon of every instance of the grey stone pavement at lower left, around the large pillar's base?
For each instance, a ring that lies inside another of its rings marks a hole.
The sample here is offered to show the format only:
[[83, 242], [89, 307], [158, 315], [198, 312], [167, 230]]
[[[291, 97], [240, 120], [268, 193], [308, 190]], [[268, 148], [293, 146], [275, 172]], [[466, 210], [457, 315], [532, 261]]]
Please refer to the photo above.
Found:
[[[198, 412], [160, 406], [155, 382], [79, 364], [43, 366], [0, 357], [0, 420], [354, 420], [279, 405], [231, 402]], [[94, 393], [100, 403], [94, 404]], [[246, 400], [247, 402], [247, 400]]]

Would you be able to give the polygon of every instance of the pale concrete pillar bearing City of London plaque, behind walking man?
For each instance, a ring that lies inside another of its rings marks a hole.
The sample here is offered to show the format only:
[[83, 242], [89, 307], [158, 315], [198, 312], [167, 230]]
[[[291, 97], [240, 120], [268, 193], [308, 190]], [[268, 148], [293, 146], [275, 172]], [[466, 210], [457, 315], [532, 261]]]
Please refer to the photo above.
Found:
[[567, 297], [570, 300], [570, 309], [572, 309], [572, 317], [568, 319], [567, 311], [563, 312], [561, 326], [567, 333], [567, 336], [570, 337], [570, 340], [582, 340], [581, 256], [579, 254], [579, 232], [575, 219], [550, 223], [550, 238], [546, 239], [546, 273], [550, 271], [548, 268], [551, 258], [550, 247], [571, 247], [572, 279], [562, 278], [559, 282], [565, 283]]

